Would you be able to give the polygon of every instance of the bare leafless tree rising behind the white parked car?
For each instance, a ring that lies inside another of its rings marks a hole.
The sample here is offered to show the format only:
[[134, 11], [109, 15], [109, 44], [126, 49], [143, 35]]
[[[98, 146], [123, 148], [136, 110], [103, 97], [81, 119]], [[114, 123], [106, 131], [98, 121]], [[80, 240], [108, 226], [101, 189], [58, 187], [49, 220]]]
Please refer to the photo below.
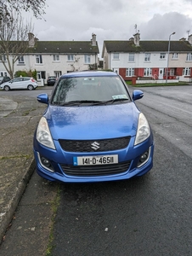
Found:
[[24, 22], [20, 14], [7, 13], [0, 20], [0, 61], [11, 79], [14, 78], [14, 64], [29, 48], [28, 33], [33, 31], [31, 22]]

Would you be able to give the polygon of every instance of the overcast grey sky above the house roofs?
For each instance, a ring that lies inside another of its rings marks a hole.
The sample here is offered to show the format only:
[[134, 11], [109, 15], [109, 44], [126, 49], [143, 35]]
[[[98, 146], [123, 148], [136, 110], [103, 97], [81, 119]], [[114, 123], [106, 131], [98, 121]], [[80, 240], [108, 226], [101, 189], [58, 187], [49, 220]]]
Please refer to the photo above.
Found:
[[[41, 40], [128, 40], [137, 30], [140, 39], [172, 40], [192, 33], [192, 0], [47, 0], [44, 20], [35, 20]], [[46, 20], [46, 21], [45, 21]]]

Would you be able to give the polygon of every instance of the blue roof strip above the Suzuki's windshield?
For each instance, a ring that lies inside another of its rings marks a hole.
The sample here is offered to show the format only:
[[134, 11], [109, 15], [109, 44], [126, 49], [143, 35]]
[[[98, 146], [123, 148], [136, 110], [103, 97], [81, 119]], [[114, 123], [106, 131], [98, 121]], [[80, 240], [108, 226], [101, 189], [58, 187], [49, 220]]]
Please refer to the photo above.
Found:
[[71, 72], [65, 73], [60, 78], [76, 78], [76, 77], [111, 77], [118, 76], [115, 72], [108, 71], [81, 71], [81, 72]]

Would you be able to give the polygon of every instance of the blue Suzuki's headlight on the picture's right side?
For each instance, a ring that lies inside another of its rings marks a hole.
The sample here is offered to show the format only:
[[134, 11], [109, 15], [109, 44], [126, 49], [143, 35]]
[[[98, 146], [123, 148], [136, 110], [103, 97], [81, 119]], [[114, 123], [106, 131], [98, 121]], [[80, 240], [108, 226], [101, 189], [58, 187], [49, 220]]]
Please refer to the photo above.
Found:
[[144, 142], [148, 137], [150, 137], [150, 125], [144, 116], [144, 113], [139, 113], [138, 117], [138, 131], [135, 137], [134, 145]]

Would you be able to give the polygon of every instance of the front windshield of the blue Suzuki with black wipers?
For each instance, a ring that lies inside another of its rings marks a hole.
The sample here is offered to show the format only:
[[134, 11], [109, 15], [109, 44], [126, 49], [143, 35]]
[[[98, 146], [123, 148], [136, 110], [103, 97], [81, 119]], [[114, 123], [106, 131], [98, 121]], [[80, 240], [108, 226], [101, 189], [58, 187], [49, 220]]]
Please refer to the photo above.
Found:
[[130, 100], [119, 77], [77, 77], [59, 80], [51, 104], [59, 106], [114, 104]]

